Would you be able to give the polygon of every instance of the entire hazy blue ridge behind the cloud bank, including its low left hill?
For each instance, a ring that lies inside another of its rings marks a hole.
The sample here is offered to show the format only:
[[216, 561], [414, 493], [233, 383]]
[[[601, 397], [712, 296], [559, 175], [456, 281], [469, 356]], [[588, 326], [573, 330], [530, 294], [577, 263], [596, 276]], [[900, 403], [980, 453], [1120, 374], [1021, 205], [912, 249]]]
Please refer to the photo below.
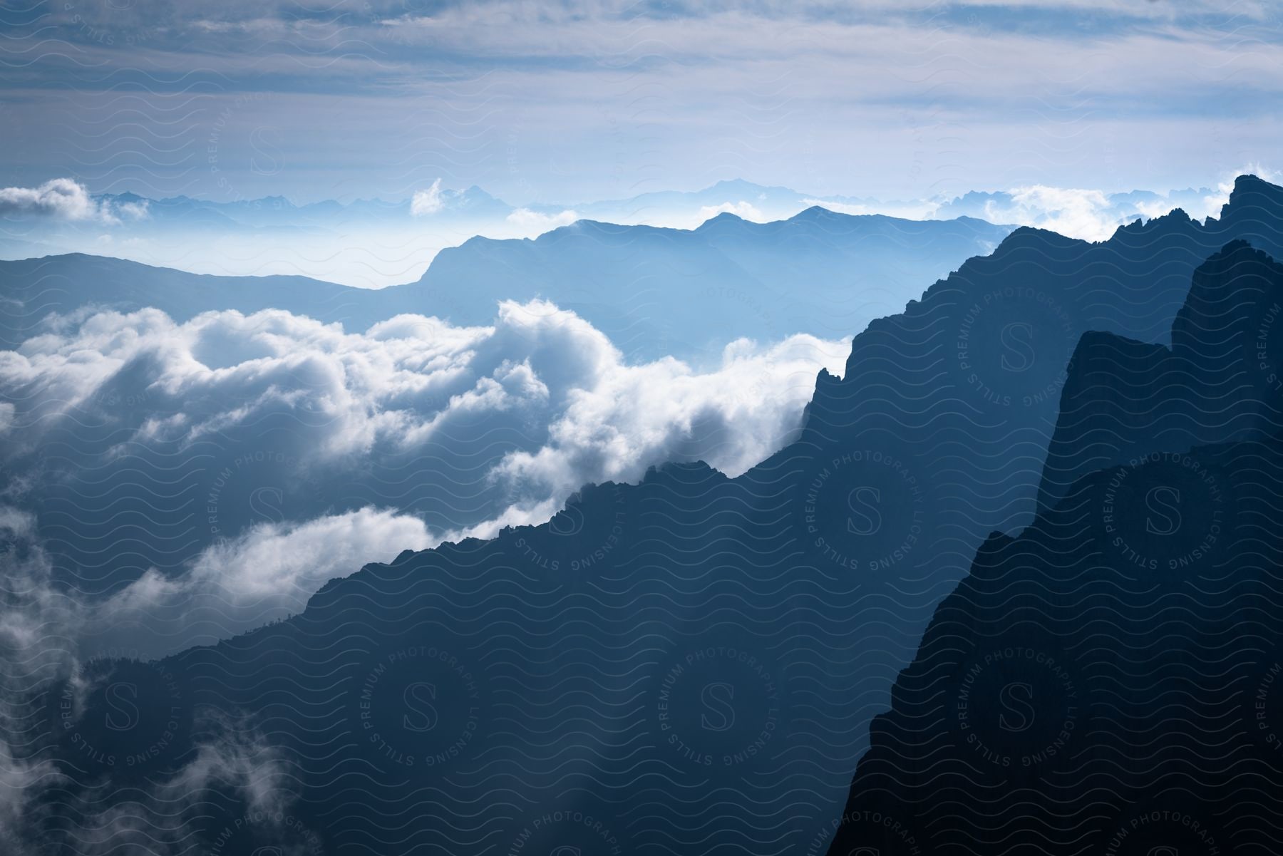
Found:
[[50, 312], [157, 307], [185, 321], [210, 309], [278, 308], [363, 331], [400, 313], [491, 323], [500, 300], [552, 300], [606, 332], [634, 361], [707, 362], [744, 336], [847, 338], [898, 312], [1010, 227], [908, 221], [822, 208], [772, 223], [721, 214], [695, 230], [580, 221], [536, 240], [473, 237], [444, 250], [418, 282], [355, 289], [305, 277], [216, 277], [89, 255], [0, 262], [13, 307], [0, 347]]

